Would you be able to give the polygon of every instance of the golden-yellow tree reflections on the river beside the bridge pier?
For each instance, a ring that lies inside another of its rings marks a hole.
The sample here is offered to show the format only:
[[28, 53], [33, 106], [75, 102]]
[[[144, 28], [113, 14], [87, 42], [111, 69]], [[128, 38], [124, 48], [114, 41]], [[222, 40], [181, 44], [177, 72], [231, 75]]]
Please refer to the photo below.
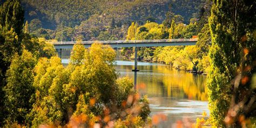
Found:
[[[125, 62], [122, 62], [122, 64]], [[133, 79], [134, 67], [130, 65], [117, 65], [120, 76]], [[120, 61], [117, 63], [120, 64]], [[206, 78], [193, 75], [185, 71], [178, 71], [169, 65], [138, 63], [137, 89], [142, 95], [149, 97], [172, 97], [177, 99], [207, 100]], [[145, 87], [146, 86], [146, 87]]]

